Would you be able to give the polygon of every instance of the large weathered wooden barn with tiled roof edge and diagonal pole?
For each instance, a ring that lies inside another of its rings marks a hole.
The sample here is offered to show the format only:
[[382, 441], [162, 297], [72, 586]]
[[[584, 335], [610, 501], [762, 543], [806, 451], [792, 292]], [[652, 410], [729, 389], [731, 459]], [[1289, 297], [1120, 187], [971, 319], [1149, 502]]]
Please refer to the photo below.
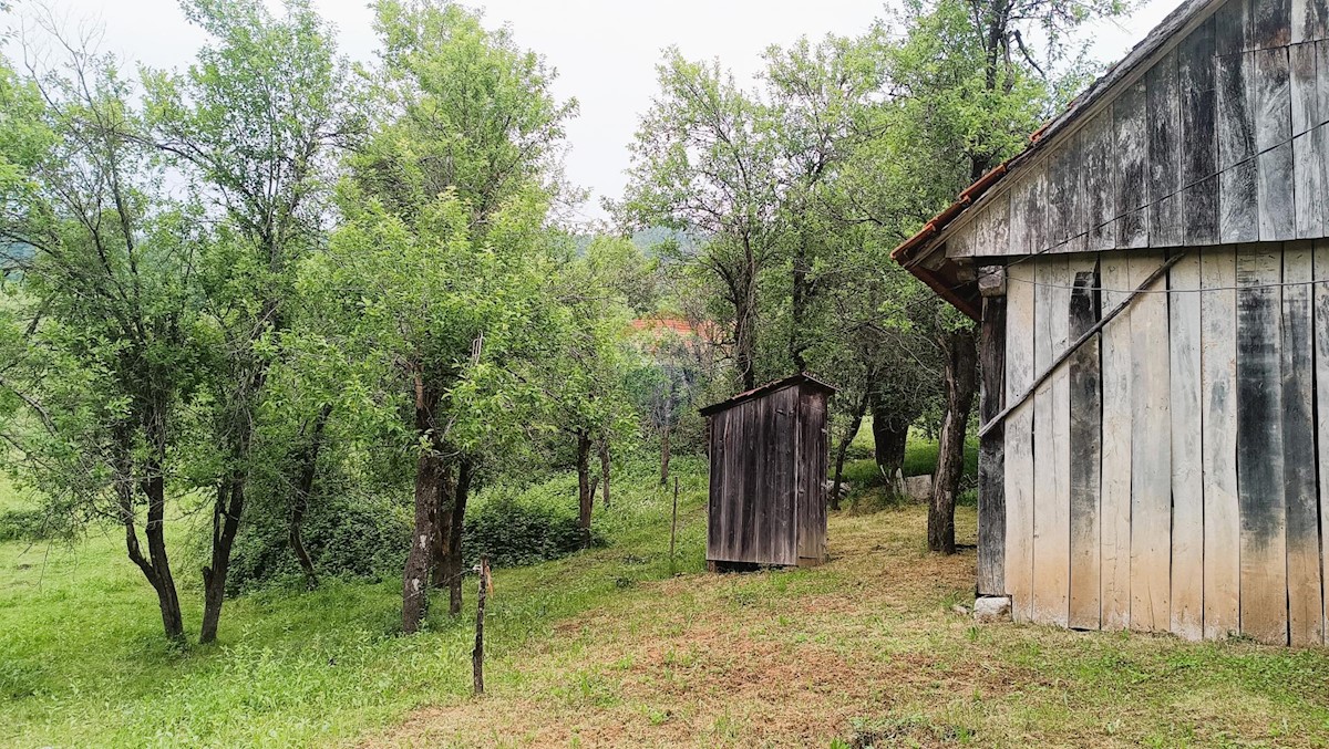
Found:
[[978, 592], [1325, 641], [1329, 7], [1191, 0], [894, 258], [982, 323]]

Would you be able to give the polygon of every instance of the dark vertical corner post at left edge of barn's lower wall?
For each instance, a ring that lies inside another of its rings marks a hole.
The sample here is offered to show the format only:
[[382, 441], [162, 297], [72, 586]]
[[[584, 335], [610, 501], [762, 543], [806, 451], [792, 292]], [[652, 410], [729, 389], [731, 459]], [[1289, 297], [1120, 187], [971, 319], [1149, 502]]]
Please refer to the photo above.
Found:
[[[983, 296], [978, 349], [982, 388], [978, 417], [987, 424], [1005, 406], [1006, 297]], [[1006, 432], [1001, 424], [978, 442], [978, 595], [1006, 594]]]

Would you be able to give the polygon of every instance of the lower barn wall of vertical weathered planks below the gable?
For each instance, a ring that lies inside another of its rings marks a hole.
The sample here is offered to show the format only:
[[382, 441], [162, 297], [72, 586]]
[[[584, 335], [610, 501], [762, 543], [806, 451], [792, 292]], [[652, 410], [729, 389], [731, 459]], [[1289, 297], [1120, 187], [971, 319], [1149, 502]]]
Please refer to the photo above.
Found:
[[[1177, 252], [1005, 421], [1014, 615], [1324, 643], [1329, 240]], [[1014, 260], [1007, 401], [1166, 259]]]

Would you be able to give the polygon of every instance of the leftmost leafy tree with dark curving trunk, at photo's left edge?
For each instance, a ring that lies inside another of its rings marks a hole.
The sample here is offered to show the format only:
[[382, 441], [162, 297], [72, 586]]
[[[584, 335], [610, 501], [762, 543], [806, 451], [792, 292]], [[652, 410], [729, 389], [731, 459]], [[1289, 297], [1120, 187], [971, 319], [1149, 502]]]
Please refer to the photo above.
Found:
[[124, 529], [183, 641], [165, 515], [199, 384], [199, 216], [162, 194], [113, 61], [48, 31], [62, 68], [0, 65], [0, 252], [21, 274], [0, 312], [0, 437], [49, 514]]

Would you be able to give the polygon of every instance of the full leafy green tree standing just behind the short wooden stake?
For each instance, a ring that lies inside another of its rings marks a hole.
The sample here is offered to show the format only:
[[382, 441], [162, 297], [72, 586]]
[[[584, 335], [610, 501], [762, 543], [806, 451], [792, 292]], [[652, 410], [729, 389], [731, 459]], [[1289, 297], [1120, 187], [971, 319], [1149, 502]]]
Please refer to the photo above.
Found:
[[342, 189], [338, 264], [319, 276], [355, 292], [338, 317], [348, 349], [391, 372], [388, 398], [409, 398], [401, 425], [419, 459], [403, 629], [415, 632], [431, 564], [460, 560], [436, 552], [464, 521], [457, 463], [508, 424], [525, 388], [508, 373], [541, 331], [544, 224], [575, 102], [553, 97], [552, 70], [506, 29], [457, 5], [384, 0], [376, 28], [375, 133]]

